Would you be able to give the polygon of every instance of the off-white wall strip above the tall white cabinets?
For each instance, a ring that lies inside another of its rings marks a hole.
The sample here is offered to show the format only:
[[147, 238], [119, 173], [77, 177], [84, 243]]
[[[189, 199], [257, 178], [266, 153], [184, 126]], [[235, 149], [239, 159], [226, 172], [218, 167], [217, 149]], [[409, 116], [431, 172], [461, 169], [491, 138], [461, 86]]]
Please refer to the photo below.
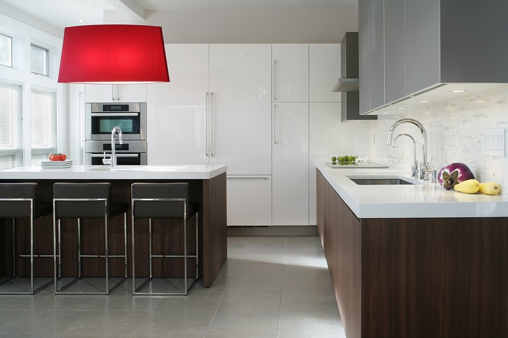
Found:
[[166, 44], [337, 43], [358, 31], [358, 9], [146, 11], [143, 21], [105, 11], [104, 23], [161, 26]]

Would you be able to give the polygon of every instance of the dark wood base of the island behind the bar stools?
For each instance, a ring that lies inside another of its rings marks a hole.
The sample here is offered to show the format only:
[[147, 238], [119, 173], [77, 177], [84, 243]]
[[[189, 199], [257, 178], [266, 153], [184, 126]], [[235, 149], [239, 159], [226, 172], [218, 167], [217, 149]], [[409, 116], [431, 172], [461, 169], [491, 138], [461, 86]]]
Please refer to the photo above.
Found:
[[[130, 215], [130, 185], [134, 182], [189, 182], [190, 199], [200, 204], [199, 210], [199, 260], [200, 260], [200, 277], [203, 278], [205, 287], [211, 286], [213, 280], [219, 273], [222, 265], [227, 257], [226, 245], [226, 174], [220, 174], [211, 179], [178, 179], [178, 180], [161, 180], [161, 179], [143, 179], [143, 180], [0, 180], [2, 182], [22, 182], [30, 181], [39, 184], [40, 201], [52, 201], [52, 189], [55, 182], [104, 182], [110, 181], [111, 198], [114, 202], [126, 202], [129, 204], [127, 213], [127, 251], [128, 251], [128, 274], [132, 276], [132, 240], [131, 240], [131, 215]], [[10, 276], [12, 273], [12, 221], [9, 219], [0, 219], [0, 234], [3, 238], [0, 241], [3, 257], [0, 259], [1, 276]], [[39, 254], [51, 254], [53, 247], [52, 233], [52, 216], [44, 217], [37, 220], [34, 226], [34, 252]], [[192, 243], [194, 218], [188, 220], [189, 229], [188, 248], [189, 253], [195, 252], [196, 245]], [[77, 246], [76, 246], [76, 221], [62, 220], [62, 251], [64, 252], [62, 260], [62, 275], [75, 276], [77, 266]], [[104, 221], [103, 220], [82, 220], [82, 247], [89, 252], [101, 252], [104, 250]], [[28, 220], [18, 220], [16, 225], [16, 251], [21, 252], [28, 249], [26, 234], [29, 234]], [[123, 217], [118, 216], [108, 221], [110, 234], [108, 240], [110, 255], [119, 255], [123, 250]], [[183, 248], [182, 241], [175, 240], [181, 238], [183, 240], [183, 231], [181, 221], [158, 220], [152, 221], [153, 250], [163, 250], [166, 254], [175, 254]], [[167, 235], [164, 238], [158, 237], [161, 230], [165, 229]], [[144, 266], [148, 267], [148, 221], [136, 220], [136, 261], [144, 262]], [[37, 258], [35, 262], [35, 276], [52, 276], [53, 260], [47, 258]], [[169, 265], [168, 265], [169, 264]], [[20, 276], [29, 275], [29, 259], [18, 259], [18, 269], [21, 271]], [[110, 276], [123, 276], [123, 259], [110, 259]], [[183, 259], [170, 259], [164, 263], [162, 260], [153, 261], [153, 276], [158, 277], [163, 274], [167, 276], [168, 269], [170, 276], [183, 276]], [[195, 268], [194, 268], [195, 269]], [[82, 262], [83, 276], [104, 276], [105, 265], [104, 259], [87, 258]], [[137, 270], [136, 270], [137, 271]], [[189, 276], [194, 276], [193, 268], [189, 267]], [[147, 269], [136, 272], [136, 276], [148, 276]]]

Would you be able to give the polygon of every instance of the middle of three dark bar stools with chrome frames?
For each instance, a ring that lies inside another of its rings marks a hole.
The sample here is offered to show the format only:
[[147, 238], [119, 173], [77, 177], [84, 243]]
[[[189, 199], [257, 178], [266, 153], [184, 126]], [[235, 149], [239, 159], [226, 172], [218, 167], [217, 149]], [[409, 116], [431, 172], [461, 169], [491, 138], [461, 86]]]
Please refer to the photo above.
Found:
[[[53, 184], [53, 223], [56, 227], [58, 221], [58, 241], [56, 234], [53, 233], [54, 243], [58, 243], [58, 252], [61, 251], [61, 231], [60, 220], [77, 218], [77, 277], [68, 282], [61, 288], [57, 287], [57, 279], [61, 278], [61, 261], [58, 261], [58, 278], [56, 275], [56, 259], [54, 274], [54, 294], [109, 294], [115, 288], [120, 286], [127, 279], [127, 209], [128, 203], [112, 203], [111, 183], [54, 183]], [[124, 255], [108, 254], [108, 219], [117, 215], [124, 214]], [[81, 218], [103, 218], [104, 219], [104, 255], [82, 255], [81, 254]], [[55, 244], [56, 245], [56, 244]], [[56, 247], [55, 247], [56, 254]], [[105, 291], [72, 291], [63, 290], [81, 280], [81, 259], [84, 257], [104, 258], [106, 263], [106, 290]], [[109, 258], [124, 258], [125, 275], [118, 283], [109, 288]]]

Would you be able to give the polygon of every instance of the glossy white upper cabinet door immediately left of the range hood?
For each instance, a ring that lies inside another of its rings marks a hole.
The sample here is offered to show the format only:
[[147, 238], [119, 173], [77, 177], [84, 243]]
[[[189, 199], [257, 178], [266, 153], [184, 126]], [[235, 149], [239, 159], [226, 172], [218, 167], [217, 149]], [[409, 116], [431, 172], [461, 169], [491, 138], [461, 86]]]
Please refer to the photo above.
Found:
[[309, 45], [309, 101], [340, 102], [331, 91], [340, 77], [340, 44]]

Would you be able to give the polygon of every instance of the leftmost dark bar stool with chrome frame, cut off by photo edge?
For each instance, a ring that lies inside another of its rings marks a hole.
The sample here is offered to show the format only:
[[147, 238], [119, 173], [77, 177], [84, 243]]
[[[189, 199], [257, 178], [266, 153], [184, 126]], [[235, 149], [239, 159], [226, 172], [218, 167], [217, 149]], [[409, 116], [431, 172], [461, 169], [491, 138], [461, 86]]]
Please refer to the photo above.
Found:
[[[54, 255], [34, 255], [33, 224], [34, 220], [51, 214], [51, 203], [39, 203], [37, 183], [0, 183], [0, 218], [12, 218], [12, 277], [0, 283], [3, 285], [17, 278], [16, 258], [30, 257], [30, 291], [0, 291], [0, 294], [33, 294], [52, 282], [34, 289], [33, 258], [53, 257]], [[30, 218], [30, 255], [16, 255], [15, 234], [16, 218]]]

